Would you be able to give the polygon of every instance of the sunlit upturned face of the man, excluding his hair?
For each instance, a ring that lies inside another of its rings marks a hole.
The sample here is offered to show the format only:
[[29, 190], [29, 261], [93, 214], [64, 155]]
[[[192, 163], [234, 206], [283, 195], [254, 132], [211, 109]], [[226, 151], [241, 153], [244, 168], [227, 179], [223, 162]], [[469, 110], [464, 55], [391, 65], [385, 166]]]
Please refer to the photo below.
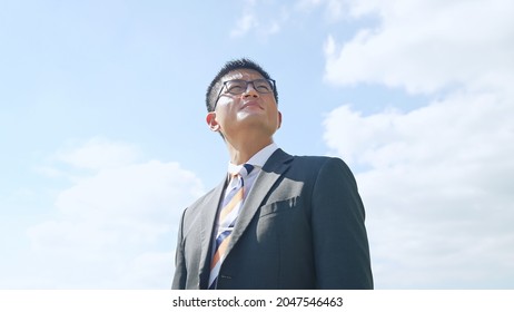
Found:
[[[254, 81], [264, 77], [251, 69], [238, 69], [228, 72], [221, 81], [234, 79]], [[207, 123], [212, 130], [220, 131], [227, 139], [250, 133], [271, 137], [280, 127], [281, 115], [273, 91], [263, 94], [253, 84], [248, 84], [246, 90], [239, 95], [230, 94], [224, 88], [216, 110], [207, 115]]]

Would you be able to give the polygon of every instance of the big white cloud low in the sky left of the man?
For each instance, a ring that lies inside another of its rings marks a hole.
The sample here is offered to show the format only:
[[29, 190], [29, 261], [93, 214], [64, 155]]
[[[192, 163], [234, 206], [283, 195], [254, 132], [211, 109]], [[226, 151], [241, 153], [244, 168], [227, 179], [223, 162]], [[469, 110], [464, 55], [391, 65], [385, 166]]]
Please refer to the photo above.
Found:
[[95, 139], [60, 154], [95, 170], [58, 194], [55, 217], [28, 231], [37, 287], [170, 287], [179, 217], [202, 185], [177, 163], [127, 163], [137, 154], [128, 146]]

